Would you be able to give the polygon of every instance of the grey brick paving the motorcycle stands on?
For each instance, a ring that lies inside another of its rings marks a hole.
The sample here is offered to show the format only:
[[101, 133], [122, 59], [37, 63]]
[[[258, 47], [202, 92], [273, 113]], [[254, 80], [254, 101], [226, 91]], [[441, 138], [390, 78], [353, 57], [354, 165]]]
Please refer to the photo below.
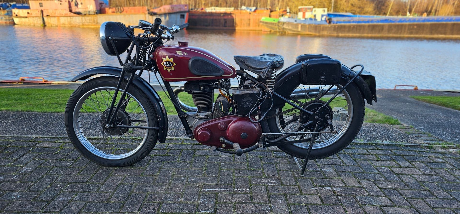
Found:
[[453, 152], [353, 145], [300, 177], [276, 149], [236, 157], [178, 143], [110, 168], [65, 138], [0, 137], [0, 213], [460, 214]]

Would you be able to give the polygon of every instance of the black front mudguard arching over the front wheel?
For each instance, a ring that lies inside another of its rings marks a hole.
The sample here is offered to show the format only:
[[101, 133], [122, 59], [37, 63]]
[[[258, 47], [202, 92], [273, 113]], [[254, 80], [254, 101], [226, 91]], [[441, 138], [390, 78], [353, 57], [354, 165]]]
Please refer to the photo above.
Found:
[[[86, 71], [82, 71], [81, 73], [79, 73], [77, 76], [71, 79], [70, 82], [84, 80], [97, 74], [108, 74], [120, 77], [121, 68], [112, 66], [90, 68]], [[124, 78], [129, 78], [129, 76], [125, 74]], [[160, 127], [158, 132], [158, 141], [160, 143], [165, 143], [168, 130], [168, 117], [163, 101], [161, 101], [161, 98], [160, 96], [158, 96], [158, 93], [156, 93], [155, 89], [153, 89], [152, 86], [142, 77], [135, 75], [134, 79], [132, 80], [132, 84], [135, 84], [137, 87], [139, 87], [147, 95], [147, 97], [150, 99], [150, 102], [153, 104], [159, 122], [158, 127]]]

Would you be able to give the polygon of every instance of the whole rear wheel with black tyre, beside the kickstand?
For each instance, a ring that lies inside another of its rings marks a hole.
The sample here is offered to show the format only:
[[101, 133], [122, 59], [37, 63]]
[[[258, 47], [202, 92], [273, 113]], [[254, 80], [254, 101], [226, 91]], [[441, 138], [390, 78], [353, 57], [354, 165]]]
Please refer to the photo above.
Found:
[[[268, 119], [271, 133], [288, 133], [297, 130], [300, 125], [308, 122], [322, 121], [319, 136], [315, 139], [309, 159], [321, 159], [337, 154], [347, 147], [357, 136], [364, 120], [365, 104], [361, 90], [354, 83], [350, 83], [337, 97], [333, 99], [335, 92], [339, 91], [345, 81], [337, 85], [310, 86], [299, 84], [291, 93], [290, 99], [302, 108], [314, 112], [318, 107], [331, 102], [321, 109], [318, 118], [292, 110], [290, 105], [277, 109], [275, 117]], [[327, 89], [330, 88], [328, 92]], [[291, 110], [290, 110], [291, 109]], [[326, 122], [327, 115], [330, 122]], [[300, 132], [312, 132], [314, 125], [307, 126]], [[302, 140], [303, 143], [293, 143], [278, 146], [285, 153], [305, 159], [312, 134], [297, 134], [286, 138], [287, 140]]]

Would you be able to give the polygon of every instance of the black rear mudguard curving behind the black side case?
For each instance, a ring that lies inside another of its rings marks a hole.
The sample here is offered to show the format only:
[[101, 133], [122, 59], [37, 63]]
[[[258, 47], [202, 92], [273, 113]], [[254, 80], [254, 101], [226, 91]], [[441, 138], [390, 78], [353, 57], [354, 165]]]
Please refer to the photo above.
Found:
[[[288, 99], [292, 91], [300, 84], [301, 66], [302, 62], [298, 62], [276, 75], [275, 88], [273, 90]], [[355, 71], [342, 65], [342, 79], [349, 80], [356, 75], [357, 73]], [[353, 82], [357, 84], [368, 104], [372, 105], [372, 100], [377, 102], [374, 75], [368, 71], [362, 71], [361, 75], [356, 77]], [[282, 99], [274, 96], [272, 109], [280, 108], [284, 106], [284, 103]]]

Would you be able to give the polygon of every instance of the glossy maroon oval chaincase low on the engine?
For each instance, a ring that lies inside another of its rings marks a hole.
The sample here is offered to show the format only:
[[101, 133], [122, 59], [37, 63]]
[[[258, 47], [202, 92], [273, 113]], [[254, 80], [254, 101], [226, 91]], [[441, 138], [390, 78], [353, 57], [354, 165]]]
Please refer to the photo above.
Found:
[[[256, 120], [253, 118], [253, 120]], [[224, 137], [232, 143], [239, 143], [241, 148], [248, 148], [259, 142], [262, 128], [248, 117], [236, 115], [219, 117], [196, 126], [193, 136], [196, 141], [207, 146], [222, 147], [219, 139]], [[226, 146], [225, 148], [229, 148]], [[231, 147], [230, 147], [231, 148]]]

